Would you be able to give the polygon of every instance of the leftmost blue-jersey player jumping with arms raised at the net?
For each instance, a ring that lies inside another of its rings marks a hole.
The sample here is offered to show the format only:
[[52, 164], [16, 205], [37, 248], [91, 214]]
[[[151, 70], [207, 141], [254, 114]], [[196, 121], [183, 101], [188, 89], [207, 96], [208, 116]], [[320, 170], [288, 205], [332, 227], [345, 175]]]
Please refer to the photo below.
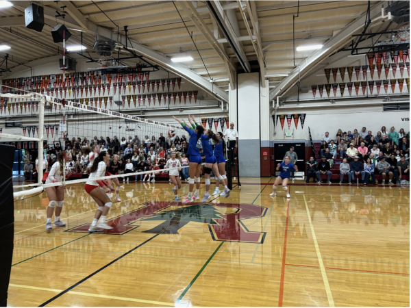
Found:
[[[188, 151], [187, 154], [190, 155], [190, 164], [188, 167], [188, 172], [190, 178], [188, 179], [188, 195], [187, 198], [184, 199], [184, 203], [189, 203], [191, 201], [195, 201], [199, 199], [199, 190], [200, 190], [200, 172], [201, 172], [201, 164], [203, 163], [201, 160], [200, 155], [200, 146], [201, 146], [201, 135], [203, 135], [204, 127], [202, 125], [197, 125], [195, 129], [192, 131], [183, 120], [179, 120], [175, 116], [173, 116], [175, 120], [177, 120], [180, 125], [190, 135], [190, 140], [188, 140]], [[194, 196], [192, 196], [192, 190], [194, 190], [194, 183], [196, 185], [196, 190]]]

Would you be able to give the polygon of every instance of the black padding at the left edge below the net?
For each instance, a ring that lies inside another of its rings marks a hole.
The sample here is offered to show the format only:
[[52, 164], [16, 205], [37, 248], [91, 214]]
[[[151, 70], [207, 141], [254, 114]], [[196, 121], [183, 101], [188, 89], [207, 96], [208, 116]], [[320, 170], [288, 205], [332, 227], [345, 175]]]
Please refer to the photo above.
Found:
[[0, 144], [0, 307], [7, 306], [14, 239], [14, 146]]

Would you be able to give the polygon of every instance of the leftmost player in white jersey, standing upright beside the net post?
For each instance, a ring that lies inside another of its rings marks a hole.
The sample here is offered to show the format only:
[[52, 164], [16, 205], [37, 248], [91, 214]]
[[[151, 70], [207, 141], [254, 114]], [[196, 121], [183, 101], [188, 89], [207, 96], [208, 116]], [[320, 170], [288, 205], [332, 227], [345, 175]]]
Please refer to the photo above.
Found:
[[[46, 179], [46, 184], [63, 181], [63, 155], [64, 151], [58, 153], [57, 161], [53, 164], [53, 166], [51, 166], [49, 176]], [[73, 174], [73, 171], [66, 170], [65, 174], [66, 178], [69, 178]], [[60, 220], [60, 214], [64, 205], [64, 189], [66, 189], [66, 187], [63, 185], [46, 188], [47, 197], [49, 198], [49, 207], [47, 207], [46, 230], [53, 229], [53, 227], [51, 227], [51, 218], [53, 217], [55, 205], [57, 205], [57, 208], [55, 209], [54, 214], [54, 227], [64, 227], [66, 225]]]

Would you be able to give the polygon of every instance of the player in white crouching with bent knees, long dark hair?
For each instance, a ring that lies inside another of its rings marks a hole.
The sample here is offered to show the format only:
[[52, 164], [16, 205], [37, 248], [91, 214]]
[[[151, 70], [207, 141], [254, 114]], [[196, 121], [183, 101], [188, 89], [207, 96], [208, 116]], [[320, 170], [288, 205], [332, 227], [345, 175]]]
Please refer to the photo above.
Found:
[[96, 211], [94, 220], [92, 220], [90, 229], [88, 229], [90, 232], [103, 231], [101, 229], [113, 229], [113, 227], [110, 227], [107, 222], [105, 222], [105, 217], [107, 216], [108, 211], [110, 211], [110, 207], [112, 207], [112, 202], [107, 194], [99, 189], [99, 186], [107, 186], [111, 192], [114, 192], [114, 189], [108, 185], [106, 181], [97, 180], [98, 178], [105, 176], [105, 169], [107, 168], [106, 164], [109, 160], [110, 154], [106, 151], [101, 151], [99, 156], [95, 157], [94, 162], [90, 167], [88, 181], [86, 181], [86, 185], [84, 186], [86, 192], [92, 196], [99, 207]]

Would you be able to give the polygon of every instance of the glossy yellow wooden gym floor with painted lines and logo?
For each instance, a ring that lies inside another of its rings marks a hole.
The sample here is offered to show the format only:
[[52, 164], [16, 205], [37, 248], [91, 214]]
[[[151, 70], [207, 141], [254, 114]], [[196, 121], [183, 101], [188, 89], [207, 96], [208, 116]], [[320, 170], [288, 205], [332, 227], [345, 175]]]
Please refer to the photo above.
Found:
[[84, 185], [52, 231], [45, 193], [15, 201], [8, 305], [410, 306], [409, 188], [296, 181], [286, 199], [273, 181], [185, 206], [168, 183], [125, 184], [104, 234]]

